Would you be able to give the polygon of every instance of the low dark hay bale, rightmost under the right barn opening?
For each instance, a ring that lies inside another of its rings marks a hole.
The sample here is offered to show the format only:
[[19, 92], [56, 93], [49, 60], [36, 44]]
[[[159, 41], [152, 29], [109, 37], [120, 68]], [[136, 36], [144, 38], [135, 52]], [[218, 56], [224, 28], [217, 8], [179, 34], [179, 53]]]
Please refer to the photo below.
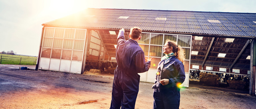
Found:
[[227, 80], [228, 87], [230, 89], [236, 89], [236, 90], [244, 90], [246, 89], [246, 82], [239, 81], [239, 80]]

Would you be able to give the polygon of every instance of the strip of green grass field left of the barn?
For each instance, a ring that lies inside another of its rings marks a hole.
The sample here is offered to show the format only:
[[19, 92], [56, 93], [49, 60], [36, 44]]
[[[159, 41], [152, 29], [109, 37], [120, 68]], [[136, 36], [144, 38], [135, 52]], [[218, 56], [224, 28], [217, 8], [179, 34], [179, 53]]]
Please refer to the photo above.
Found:
[[34, 56], [0, 54], [1, 64], [36, 65], [36, 61], [37, 57]]

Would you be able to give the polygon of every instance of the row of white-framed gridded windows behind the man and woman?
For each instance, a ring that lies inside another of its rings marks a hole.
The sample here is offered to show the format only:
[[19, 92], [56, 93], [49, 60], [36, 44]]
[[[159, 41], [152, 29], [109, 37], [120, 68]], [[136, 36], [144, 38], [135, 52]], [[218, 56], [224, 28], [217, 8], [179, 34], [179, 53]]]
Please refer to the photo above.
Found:
[[155, 64], [155, 66], [150, 68], [157, 67], [161, 57], [165, 55], [162, 51], [162, 46], [165, 44], [166, 39], [178, 42], [182, 49], [184, 49], [185, 60], [188, 61], [190, 59], [191, 35], [142, 33], [141, 36], [142, 38], [138, 41], [138, 44], [144, 51], [144, 55], [154, 57], [154, 60], [158, 60], [151, 62], [151, 64]]

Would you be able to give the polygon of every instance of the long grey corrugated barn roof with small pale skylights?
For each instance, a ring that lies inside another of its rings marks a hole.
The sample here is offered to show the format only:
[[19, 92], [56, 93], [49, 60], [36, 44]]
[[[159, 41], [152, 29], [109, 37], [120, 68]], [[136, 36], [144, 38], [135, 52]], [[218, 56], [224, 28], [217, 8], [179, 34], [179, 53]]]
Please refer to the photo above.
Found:
[[[88, 16], [90, 15], [90, 16]], [[95, 15], [95, 16], [91, 16]], [[127, 19], [118, 19], [129, 16]], [[156, 20], [166, 18], [166, 20]], [[220, 21], [220, 23], [210, 23]], [[256, 13], [192, 12], [88, 8], [43, 25], [100, 29], [130, 29], [256, 37]]]

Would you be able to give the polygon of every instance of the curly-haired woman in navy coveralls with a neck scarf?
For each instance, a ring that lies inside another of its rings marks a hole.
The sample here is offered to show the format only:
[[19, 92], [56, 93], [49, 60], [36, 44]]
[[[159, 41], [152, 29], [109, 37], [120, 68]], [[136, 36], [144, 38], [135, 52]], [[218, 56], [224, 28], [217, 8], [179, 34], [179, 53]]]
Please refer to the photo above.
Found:
[[184, 51], [175, 42], [166, 40], [163, 47], [165, 56], [157, 67], [153, 109], [179, 109], [180, 84], [185, 80]]

